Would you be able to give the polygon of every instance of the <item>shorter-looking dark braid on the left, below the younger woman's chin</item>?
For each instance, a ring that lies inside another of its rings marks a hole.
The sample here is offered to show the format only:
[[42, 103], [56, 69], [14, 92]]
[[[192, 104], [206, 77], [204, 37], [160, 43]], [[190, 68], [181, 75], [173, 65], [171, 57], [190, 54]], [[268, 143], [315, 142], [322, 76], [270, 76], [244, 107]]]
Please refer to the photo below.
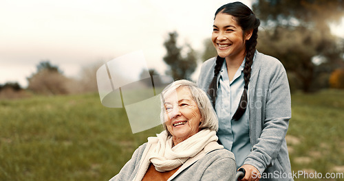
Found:
[[215, 108], [215, 101], [217, 97], [217, 75], [219, 75], [219, 71], [221, 71], [222, 64], [224, 63], [224, 58], [217, 56], [216, 64], [214, 68], [214, 77], [211, 80], [211, 84], [208, 88], [208, 95], [211, 97], [211, 101], [213, 103], [213, 107]]

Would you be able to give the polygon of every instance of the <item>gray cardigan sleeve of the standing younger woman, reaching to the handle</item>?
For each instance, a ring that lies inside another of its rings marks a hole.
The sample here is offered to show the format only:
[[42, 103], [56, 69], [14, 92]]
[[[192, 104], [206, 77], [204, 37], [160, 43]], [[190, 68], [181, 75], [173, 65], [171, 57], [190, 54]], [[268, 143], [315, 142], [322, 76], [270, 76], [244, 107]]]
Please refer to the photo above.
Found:
[[285, 140], [291, 118], [291, 98], [288, 77], [282, 64], [271, 69], [269, 88], [263, 114], [263, 128], [257, 143], [244, 164], [255, 166], [260, 173], [277, 160], [281, 144]]

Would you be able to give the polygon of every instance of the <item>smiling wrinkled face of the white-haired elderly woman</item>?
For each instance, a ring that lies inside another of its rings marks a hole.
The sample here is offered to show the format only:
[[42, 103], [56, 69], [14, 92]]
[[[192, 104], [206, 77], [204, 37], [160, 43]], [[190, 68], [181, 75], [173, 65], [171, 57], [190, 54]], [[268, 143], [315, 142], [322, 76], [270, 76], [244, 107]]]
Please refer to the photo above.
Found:
[[201, 114], [188, 87], [181, 86], [166, 95], [164, 108], [166, 128], [173, 139], [179, 139], [181, 142], [199, 131]]

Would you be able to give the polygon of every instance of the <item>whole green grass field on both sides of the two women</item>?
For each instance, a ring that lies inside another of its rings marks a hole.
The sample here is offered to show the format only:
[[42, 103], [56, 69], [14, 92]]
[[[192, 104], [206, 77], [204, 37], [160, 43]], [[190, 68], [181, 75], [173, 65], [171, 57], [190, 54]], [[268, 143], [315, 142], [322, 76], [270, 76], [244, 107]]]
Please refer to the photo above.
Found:
[[[292, 170], [343, 167], [343, 97], [343, 90], [292, 95]], [[109, 180], [161, 130], [132, 134], [125, 110], [104, 107], [98, 94], [2, 100], [0, 180]]]

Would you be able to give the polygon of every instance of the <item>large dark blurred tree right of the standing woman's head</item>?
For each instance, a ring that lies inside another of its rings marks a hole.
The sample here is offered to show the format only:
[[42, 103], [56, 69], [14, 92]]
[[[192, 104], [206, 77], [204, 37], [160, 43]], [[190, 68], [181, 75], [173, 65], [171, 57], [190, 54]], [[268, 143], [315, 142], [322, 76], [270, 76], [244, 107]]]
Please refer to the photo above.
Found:
[[343, 16], [344, 0], [257, 0], [252, 7], [264, 27], [257, 49], [279, 58], [304, 92], [320, 88], [324, 73], [343, 66], [341, 38], [329, 23]]

